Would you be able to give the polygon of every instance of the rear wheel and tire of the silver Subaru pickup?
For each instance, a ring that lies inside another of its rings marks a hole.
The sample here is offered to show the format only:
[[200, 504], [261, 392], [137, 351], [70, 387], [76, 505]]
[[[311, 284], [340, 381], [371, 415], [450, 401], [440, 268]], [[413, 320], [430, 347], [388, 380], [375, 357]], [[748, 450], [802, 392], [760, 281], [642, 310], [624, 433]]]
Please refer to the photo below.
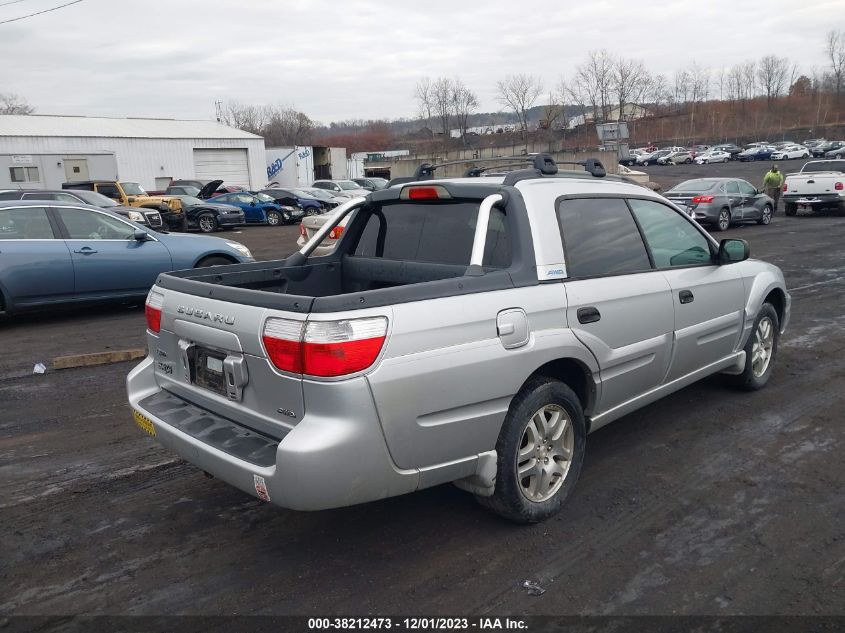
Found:
[[[559, 434], [559, 440], [550, 439], [549, 431]], [[477, 497], [479, 503], [516, 523], [538, 523], [557, 514], [578, 481], [586, 437], [584, 411], [575, 392], [557, 380], [530, 379], [511, 401], [496, 442], [493, 495]], [[523, 478], [517, 472], [520, 464], [529, 473]]]

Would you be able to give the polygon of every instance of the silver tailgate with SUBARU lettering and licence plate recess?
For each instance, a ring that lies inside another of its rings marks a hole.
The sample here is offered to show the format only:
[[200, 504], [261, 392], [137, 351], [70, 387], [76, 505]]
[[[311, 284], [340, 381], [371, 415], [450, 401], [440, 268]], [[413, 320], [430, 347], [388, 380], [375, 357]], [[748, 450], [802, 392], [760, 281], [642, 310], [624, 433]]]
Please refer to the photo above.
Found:
[[148, 333], [161, 388], [279, 439], [302, 419], [302, 379], [272, 366], [261, 332], [268, 315], [304, 321], [306, 314], [152, 292], [162, 304], [160, 332]]

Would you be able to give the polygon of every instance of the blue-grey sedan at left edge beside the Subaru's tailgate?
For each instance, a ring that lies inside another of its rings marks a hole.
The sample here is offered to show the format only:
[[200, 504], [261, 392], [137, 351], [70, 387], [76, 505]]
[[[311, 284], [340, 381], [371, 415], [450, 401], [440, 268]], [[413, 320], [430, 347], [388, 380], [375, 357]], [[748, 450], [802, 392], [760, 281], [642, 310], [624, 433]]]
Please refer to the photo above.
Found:
[[0, 202], [0, 313], [143, 297], [159, 273], [251, 261], [243, 244], [158, 233], [99, 207]]

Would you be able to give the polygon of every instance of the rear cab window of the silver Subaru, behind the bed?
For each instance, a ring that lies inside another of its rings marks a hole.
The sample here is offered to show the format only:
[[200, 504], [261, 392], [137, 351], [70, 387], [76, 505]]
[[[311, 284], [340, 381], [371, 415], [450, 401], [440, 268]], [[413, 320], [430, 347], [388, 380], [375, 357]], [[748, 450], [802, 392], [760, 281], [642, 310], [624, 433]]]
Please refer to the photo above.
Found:
[[[472, 255], [478, 202], [392, 204], [373, 211], [355, 255], [466, 266]], [[484, 266], [507, 268], [510, 239], [504, 212], [490, 213]]]

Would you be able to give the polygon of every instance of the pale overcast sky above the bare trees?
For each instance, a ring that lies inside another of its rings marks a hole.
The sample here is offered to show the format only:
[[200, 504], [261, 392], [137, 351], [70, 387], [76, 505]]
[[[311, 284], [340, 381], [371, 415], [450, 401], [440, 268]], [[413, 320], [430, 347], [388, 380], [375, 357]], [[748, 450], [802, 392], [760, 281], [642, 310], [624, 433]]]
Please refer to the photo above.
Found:
[[[68, 0], [21, 0], [0, 21]], [[845, 0], [83, 0], [0, 24], [0, 92], [42, 114], [214, 117], [215, 100], [289, 104], [328, 123], [415, 114], [423, 76], [459, 76], [482, 111], [496, 80], [547, 87], [592, 49], [666, 73], [775, 53], [826, 66]]]

